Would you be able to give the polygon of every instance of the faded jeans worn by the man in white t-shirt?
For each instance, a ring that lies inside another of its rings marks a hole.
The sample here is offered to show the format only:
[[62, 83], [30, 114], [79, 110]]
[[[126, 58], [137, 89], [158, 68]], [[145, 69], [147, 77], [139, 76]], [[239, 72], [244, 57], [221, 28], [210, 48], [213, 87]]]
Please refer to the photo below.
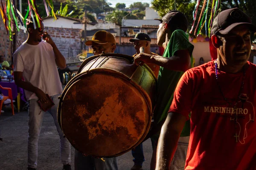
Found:
[[[62, 164], [71, 163], [71, 149], [70, 142], [67, 138], [63, 137], [63, 132], [58, 125], [57, 121], [57, 108], [58, 108], [58, 99], [59, 95], [51, 96], [55, 105], [50, 108], [49, 112], [54, 120], [55, 126], [57, 127], [58, 135], [60, 136], [61, 142], [61, 162]], [[38, 158], [38, 139], [41, 131], [41, 126], [44, 118], [45, 112], [41, 110], [37, 103], [38, 99], [29, 100], [29, 136], [28, 136], [28, 167], [36, 168], [37, 167], [37, 158]]]

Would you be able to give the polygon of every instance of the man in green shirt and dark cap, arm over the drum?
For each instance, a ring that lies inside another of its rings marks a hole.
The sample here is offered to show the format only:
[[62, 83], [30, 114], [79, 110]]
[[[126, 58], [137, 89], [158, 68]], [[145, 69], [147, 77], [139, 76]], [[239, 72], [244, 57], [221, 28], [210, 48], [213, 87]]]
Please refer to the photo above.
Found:
[[[159, 20], [161, 23], [157, 30], [157, 45], [165, 49], [162, 56], [140, 53], [134, 57], [138, 65], [141, 61], [146, 64], [160, 65], [157, 81], [157, 100], [154, 108], [154, 125], [148, 133], [155, 141], [151, 159], [151, 169], [156, 162], [156, 146], [160, 135], [160, 129], [166, 119], [173, 99], [173, 93], [182, 74], [191, 68], [192, 52], [194, 46], [189, 42], [185, 31], [188, 28], [188, 20], [180, 11], [169, 11]], [[182, 170], [185, 166], [186, 152], [190, 133], [189, 122], [184, 126], [179, 144], [172, 160], [170, 170]]]

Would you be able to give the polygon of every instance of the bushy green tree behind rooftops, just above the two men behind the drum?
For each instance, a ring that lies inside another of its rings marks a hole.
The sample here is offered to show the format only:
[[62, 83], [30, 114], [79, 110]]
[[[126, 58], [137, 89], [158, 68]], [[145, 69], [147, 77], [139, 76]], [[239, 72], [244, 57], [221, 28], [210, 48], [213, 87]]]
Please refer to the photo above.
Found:
[[113, 23], [119, 24], [120, 26], [122, 25], [122, 19], [123, 17], [125, 17], [125, 19], [137, 19], [137, 16], [135, 16], [134, 14], [131, 14], [129, 12], [126, 11], [113, 11], [112, 14], [109, 14], [106, 16], [106, 21], [111, 21]]

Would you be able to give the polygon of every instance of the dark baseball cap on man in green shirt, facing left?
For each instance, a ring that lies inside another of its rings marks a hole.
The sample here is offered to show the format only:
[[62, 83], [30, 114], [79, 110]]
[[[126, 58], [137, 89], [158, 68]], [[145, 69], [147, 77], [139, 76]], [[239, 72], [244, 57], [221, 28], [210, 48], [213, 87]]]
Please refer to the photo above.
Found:
[[165, 22], [168, 25], [182, 25], [186, 27], [186, 29], [189, 26], [189, 22], [185, 16], [185, 14], [183, 14], [180, 11], [177, 10], [172, 10], [169, 11], [167, 14], [165, 14], [165, 16], [163, 16], [162, 18], [155, 18], [154, 20], [159, 20], [160, 22]]

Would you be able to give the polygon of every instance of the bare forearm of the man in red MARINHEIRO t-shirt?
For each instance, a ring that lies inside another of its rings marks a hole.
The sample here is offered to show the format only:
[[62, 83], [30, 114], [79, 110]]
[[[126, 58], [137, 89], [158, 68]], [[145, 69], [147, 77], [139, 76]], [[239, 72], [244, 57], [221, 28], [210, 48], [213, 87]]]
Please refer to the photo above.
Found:
[[168, 113], [157, 144], [156, 170], [169, 170], [185, 122], [185, 116], [178, 113]]

